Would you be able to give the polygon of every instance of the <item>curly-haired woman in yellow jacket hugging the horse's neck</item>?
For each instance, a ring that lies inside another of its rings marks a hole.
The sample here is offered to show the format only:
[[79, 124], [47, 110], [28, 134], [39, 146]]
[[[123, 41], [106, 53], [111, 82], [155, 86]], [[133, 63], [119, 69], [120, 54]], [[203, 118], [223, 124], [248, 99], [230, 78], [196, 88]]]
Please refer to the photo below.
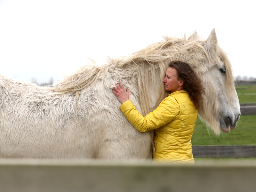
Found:
[[143, 117], [129, 100], [129, 90], [116, 84], [112, 92], [122, 103], [120, 109], [140, 132], [155, 130], [153, 161], [194, 163], [191, 137], [194, 131], [197, 109], [204, 93], [200, 79], [190, 66], [172, 61], [163, 80], [170, 91], [159, 106]]

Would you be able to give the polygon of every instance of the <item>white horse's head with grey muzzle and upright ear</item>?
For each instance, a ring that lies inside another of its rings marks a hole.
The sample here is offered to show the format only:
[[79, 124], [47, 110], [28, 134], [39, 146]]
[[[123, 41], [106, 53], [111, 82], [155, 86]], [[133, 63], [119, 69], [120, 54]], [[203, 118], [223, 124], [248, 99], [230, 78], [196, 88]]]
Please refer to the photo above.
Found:
[[201, 44], [203, 51], [200, 54], [204, 57], [200, 59], [196, 71], [205, 86], [205, 95], [198, 115], [216, 134], [219, 134], [220, 130], [230, 132], [235, 129], [240, 117], [231, 64], [217, 43], [214, 29]]

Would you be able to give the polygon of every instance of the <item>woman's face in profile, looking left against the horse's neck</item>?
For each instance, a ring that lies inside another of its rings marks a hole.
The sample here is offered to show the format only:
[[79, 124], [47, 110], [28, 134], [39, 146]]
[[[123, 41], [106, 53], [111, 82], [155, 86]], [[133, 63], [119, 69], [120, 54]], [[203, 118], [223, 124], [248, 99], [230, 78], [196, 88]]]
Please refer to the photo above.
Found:
[[175, 68], [169, 67], [165, 75], [163, 82], [166, 91], [173, 93], [183, 89], [183, 79], [178, 80], [177, 70]]

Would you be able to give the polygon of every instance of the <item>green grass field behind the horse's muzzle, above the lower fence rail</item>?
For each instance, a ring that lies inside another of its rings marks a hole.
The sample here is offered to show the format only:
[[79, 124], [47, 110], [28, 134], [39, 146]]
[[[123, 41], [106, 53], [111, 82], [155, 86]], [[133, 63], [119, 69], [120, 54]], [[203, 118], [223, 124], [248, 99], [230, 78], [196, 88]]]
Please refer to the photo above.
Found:
[[[256, 85], [236, 86], [240, 103], [256, 103]], [[241, 116], [236, 129], [216, 136], [197, 118], [192, 145], [256, 145], [256, 116]]]

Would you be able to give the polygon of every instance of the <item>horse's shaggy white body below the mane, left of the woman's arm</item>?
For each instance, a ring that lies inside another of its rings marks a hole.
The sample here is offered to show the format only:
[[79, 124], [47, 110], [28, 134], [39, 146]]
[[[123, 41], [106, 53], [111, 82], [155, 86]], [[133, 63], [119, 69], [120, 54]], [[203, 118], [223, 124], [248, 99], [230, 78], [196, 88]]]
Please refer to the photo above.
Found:
[[151, 134], [127, 122], [109, 89], [81, 92], [76, 111], [75, 92], [58, 95], [7, 77], [0, 83], [0, 157], [129, 159], [150, 154]]

